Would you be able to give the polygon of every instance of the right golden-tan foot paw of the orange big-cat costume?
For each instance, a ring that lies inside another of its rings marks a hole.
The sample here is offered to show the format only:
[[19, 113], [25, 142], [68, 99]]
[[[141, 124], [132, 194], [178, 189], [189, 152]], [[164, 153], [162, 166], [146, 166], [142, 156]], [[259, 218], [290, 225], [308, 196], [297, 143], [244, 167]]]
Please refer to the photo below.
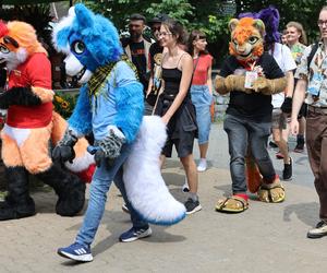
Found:
[[280, 180], [272, 183], [263, 183], [257, 192], [258, 199], [267, 203], [280, 203], [284, 200], [284, 188]]

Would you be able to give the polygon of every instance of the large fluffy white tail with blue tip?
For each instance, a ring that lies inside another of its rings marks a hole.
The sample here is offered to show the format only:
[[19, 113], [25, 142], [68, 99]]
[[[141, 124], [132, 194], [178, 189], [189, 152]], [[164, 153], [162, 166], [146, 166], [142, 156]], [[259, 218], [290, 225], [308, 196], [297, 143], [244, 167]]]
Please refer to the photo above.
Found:
[[185, 206], [169, 192], [159, 156], [167, 139], [160, 117], [145, 116], [132, 152], [124, 164], [124, 183], [130, 202], [152, 224], [172, 225], [185, 217]]

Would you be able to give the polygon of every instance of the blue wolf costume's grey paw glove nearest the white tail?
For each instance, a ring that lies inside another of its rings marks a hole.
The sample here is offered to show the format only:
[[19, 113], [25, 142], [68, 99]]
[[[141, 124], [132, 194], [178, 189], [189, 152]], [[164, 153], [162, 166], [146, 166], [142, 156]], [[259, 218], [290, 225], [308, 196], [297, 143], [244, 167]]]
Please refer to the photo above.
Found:
[[125, 139], [114, 134], [113, 130], [109, 130], [109, 135], [100, 141], [96, 141], [96, 152], [94, 153], [94, 159], [97, 167], [101, 166], [101, 162], [107, 159], [109, 166], [120, 155], [120, 150], [124, 144]]

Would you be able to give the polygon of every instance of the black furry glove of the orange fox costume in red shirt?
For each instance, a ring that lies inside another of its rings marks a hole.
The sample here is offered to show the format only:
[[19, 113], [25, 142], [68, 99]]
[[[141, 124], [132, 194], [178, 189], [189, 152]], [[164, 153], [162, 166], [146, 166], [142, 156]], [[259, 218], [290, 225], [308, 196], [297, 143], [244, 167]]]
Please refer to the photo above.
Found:
[[11, 105], [36, 106], [41, 103], [31, 87], [12, 87], [0, 95], [1, 109], [8, 109]]

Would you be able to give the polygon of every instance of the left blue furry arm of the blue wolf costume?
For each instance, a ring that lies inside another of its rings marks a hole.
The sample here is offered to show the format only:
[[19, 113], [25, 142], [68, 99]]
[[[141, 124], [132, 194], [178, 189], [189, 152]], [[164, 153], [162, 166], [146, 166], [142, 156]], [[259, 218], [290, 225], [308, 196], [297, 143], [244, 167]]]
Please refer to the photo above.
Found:
[[68, 122], [69, 127], [78, 135], [85, 135], [92, 132], [90, 102], [86, 85], [83, 85], [80, 88], [80, 96]]

